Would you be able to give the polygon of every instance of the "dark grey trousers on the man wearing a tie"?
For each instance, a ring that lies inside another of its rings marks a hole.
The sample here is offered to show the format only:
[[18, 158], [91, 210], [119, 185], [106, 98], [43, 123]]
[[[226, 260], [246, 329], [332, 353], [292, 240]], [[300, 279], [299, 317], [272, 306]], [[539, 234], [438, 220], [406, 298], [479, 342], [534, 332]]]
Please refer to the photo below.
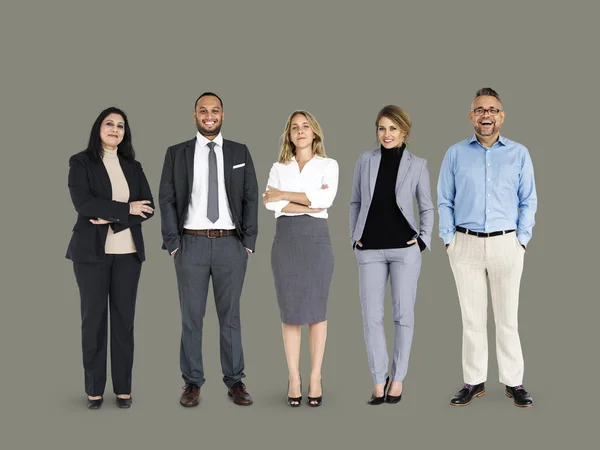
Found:
[[186, 382], [202, 386], [202, 324], [208, 281], [212, 277], [219, 317], [221, 368], [228, 387], [244, 375], [240, 325], [240, 295], [248, 254], [235, 236], [208, 238], [184, 234], [175, 253], [175, 272], [181, 306], [181, 374]]

